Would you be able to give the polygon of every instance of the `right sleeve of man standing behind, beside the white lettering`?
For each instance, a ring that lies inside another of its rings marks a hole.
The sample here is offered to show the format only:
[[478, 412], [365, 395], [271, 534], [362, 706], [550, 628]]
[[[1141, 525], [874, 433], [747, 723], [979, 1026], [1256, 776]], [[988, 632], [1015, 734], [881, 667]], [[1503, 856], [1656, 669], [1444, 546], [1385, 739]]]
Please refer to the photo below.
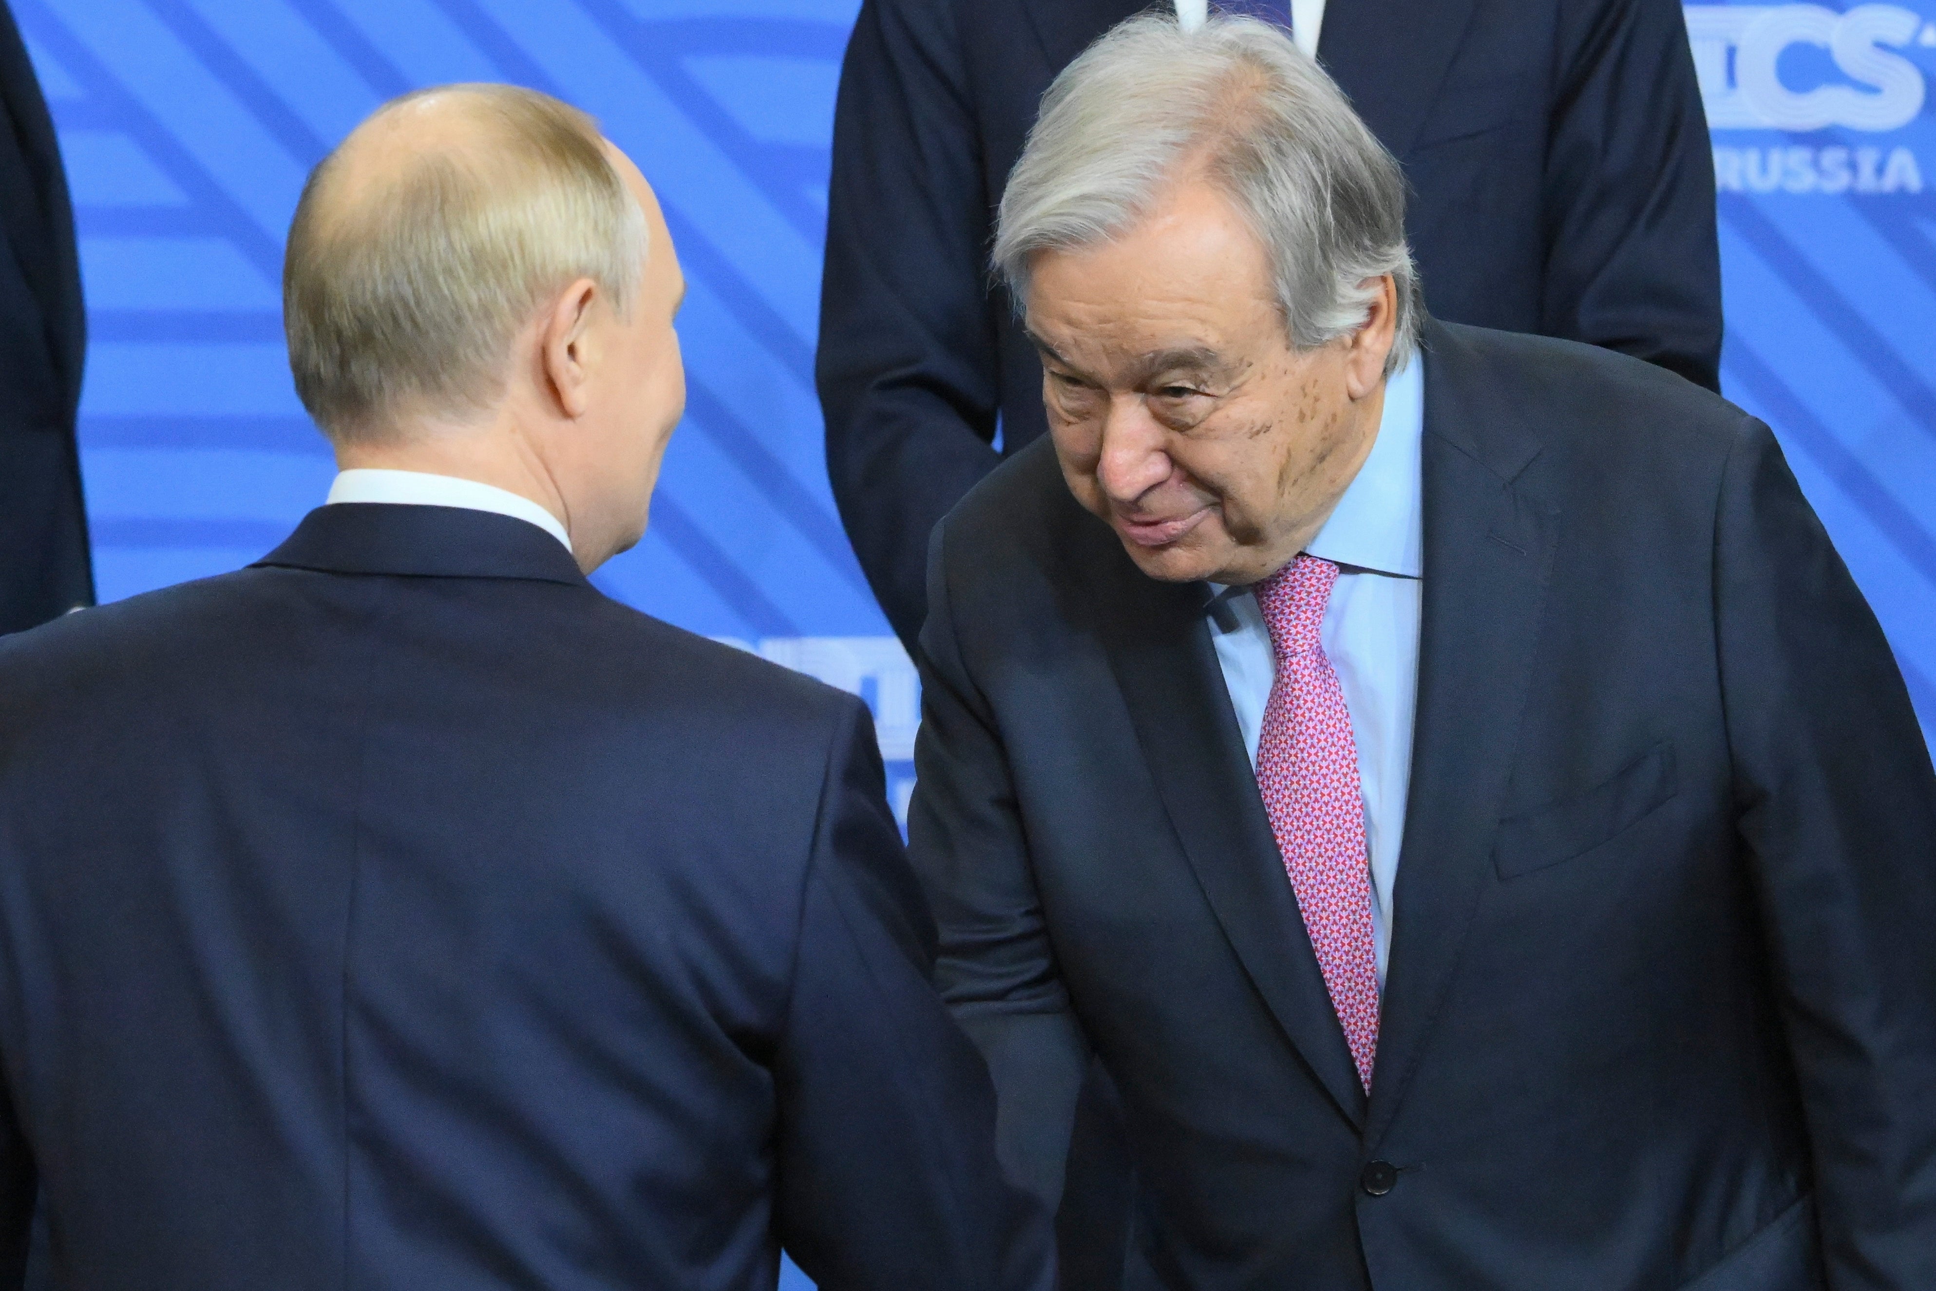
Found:
[[1721, 387], [1713, 151], [1679, 0], [1560, 6], [1541, 331]]

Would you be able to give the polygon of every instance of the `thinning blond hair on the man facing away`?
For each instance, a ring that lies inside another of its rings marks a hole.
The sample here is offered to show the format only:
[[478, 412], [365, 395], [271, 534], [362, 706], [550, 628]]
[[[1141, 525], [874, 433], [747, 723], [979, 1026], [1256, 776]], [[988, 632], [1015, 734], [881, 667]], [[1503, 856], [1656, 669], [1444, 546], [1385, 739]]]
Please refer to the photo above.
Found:
[[625, 310], [645, 254], [645, 215], [587, 114], [513, 85], [405, 95], [316, 166], [296, 205], [283, 265], [296, 393], [339, 445], [478, 416], [558, 290], [592, 279]]

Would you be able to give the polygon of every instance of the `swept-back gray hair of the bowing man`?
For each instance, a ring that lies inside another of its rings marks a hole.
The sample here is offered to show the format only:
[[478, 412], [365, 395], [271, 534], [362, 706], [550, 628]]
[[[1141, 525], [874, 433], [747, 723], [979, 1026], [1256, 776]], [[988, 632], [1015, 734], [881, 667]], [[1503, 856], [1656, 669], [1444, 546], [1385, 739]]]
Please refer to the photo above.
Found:
[[1264, 244], [1293, 346], [1361, 327], [1378, 294], [1367, 279], [1388, 273], [1386, 375], [1411, 358], [1423, 302], [1398, 161], [1287, 33], [1255, 17], [1183, 31], [1142, 14], [1055, 77], [1001, 197], [993, 263], [1014, 300], [1028, 302], [1036, 252], [1127, 230], [1185, 163], [1204, 165]]

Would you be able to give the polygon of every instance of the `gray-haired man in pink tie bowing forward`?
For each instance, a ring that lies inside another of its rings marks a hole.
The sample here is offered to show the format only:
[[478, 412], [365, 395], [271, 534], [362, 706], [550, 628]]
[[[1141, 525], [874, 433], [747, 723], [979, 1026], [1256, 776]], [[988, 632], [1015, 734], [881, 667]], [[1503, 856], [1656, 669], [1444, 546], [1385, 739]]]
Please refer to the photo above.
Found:
[[1936, 1285], [1936, 776], [1768, 428], [1427, 317], [1249, 19], [1084, 52], [993, 254], [910, 854], [1014, 1177], [1094, 1053], [1173, 1291]]

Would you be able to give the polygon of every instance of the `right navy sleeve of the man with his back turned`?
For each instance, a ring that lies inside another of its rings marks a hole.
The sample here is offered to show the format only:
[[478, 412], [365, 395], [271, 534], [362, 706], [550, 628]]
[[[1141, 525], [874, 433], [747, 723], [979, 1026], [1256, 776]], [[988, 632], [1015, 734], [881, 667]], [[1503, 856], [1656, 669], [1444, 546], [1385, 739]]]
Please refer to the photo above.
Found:
[[829, 761], [776, 1061], [780, 1239], [821, 1291], [1049, 1291], [1047, 1214], [995, 1159], [987, 1070], [933, 989], [933, 921], [867, 710]]

